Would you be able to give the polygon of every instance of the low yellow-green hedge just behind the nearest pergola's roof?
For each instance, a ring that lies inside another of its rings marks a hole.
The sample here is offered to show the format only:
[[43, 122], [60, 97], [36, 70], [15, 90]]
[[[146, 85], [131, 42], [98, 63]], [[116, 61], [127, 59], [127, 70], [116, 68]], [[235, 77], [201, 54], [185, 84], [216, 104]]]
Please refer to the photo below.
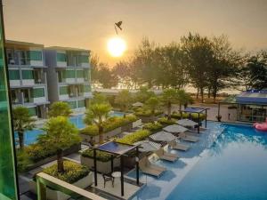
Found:
[[125, 144], [134, 144], [136, 141], [141, 141], [149, 137], [151, 132], [149, 130], [138, 130], [132, 134], [126, 135], [125, 137], [118, 139], [118, 142]]

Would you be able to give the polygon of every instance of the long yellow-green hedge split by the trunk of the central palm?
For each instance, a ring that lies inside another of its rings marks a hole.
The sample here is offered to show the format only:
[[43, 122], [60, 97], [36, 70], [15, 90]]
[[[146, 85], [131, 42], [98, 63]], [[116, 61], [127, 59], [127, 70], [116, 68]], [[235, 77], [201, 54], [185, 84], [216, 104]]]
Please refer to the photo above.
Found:
[[[124, 126], [126, 124], [135, 122], [137, 117], [134, 115], [123, 116], [112, 116], [109, 117], [104, 123], [104, 132], [110, 132], [118, 127]], [[84, 129], [80, 130], [81, 134], [96, 136], [99, 134], [98, 127], [96, 124], [88, 125]]]

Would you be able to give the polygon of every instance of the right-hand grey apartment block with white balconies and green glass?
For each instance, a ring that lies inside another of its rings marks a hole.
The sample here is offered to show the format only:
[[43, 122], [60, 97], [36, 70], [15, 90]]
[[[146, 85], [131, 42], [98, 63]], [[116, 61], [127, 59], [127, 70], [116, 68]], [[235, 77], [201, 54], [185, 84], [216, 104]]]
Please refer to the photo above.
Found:
[[92, 98], [90, 51], [53, 46], [44, 53], [49, 100], [66, 101], [73, 112], [84, 112]]

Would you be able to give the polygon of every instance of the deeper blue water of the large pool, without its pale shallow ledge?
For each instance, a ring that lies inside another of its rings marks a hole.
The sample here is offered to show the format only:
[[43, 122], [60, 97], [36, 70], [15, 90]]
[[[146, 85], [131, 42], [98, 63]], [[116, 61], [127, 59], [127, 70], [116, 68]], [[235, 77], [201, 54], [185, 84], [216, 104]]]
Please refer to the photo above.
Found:
[[267, 132], [225, 126], [206, 156], [166, 199], [267, 199]]

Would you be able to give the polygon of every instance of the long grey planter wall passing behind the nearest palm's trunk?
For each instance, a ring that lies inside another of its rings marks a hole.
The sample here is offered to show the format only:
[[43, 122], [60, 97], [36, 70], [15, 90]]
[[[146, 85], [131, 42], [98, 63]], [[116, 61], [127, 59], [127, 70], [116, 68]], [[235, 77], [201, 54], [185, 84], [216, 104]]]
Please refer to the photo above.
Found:
[[[70, 148], [65, 149], [63, 151], [63, 156], [68, 156], [69, 154], [77, 153], [80, 149], [81, 149], [81, 143], [73, 145]], [[39, 167], [39, 166], [41, 166], [43, 164], [51, 163], [52, 161], [54, 161], [56, 159], [57, 159], [56, 155], [46, 157], [43, 160], [37, 161], [36, 163], [29, 165], [28, 166], [28, 171], [36, 169], [37, 167]]]

